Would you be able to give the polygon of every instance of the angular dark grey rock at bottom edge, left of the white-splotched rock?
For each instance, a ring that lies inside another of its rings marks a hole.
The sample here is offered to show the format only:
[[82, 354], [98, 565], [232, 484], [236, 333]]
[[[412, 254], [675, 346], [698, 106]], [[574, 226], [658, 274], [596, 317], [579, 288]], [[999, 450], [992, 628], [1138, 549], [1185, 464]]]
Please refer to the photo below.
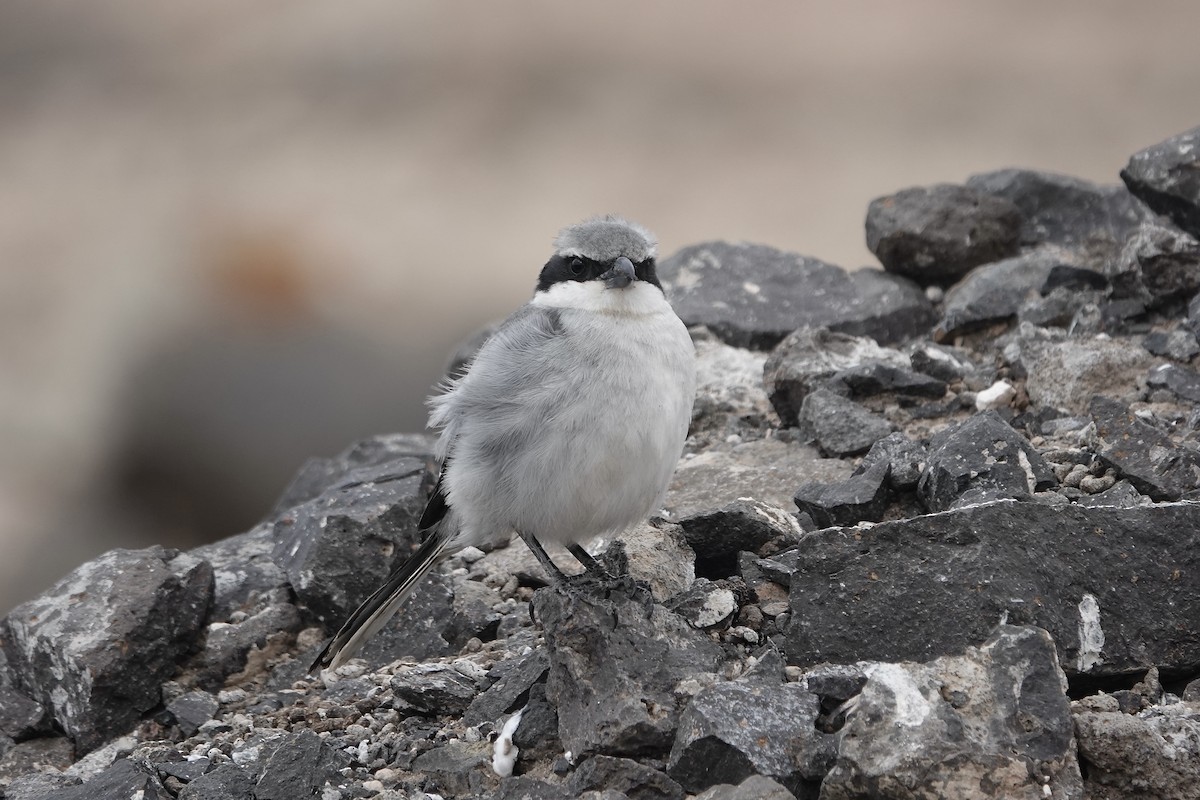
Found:
[[817, 697], [799, 684], [738, 680], [692, 698], [679, 720], [667, 772], [689, 792], [766, 775], [812, 793], [833, 764], [835, 738], [816, 729]]

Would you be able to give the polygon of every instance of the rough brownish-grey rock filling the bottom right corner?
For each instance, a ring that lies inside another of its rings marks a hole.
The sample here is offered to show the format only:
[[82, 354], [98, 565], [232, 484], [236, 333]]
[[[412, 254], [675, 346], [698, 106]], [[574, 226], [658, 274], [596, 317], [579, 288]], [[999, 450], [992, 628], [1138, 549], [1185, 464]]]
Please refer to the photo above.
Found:
[[1189, 800], [1200, 782], [1200, 710], [1156, 706], [1132, 716], [1084, 711], [1075, 716], [1088, 798]]

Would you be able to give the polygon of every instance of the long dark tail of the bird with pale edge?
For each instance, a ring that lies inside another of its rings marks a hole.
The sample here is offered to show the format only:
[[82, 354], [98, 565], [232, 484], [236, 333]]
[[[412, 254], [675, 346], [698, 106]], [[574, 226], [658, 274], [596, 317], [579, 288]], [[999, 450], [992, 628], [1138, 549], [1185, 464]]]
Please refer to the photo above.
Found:
[[445, 549], [450, 536], [444, 533], [446, 527], [442, 525], [430, 531], [425, 543], [413, 553], [412, 558], [400, 565], [382, 587], [362, 601], [362, 604], [342, 625], [342, 630], [330, 639], [317, 660], [308, 667], [310, 673], [317, 669], [341, 667], [359, 651], [359, 648], [366, 644], [367, 639], [374, 636], [376, 631], [388, 624], [392, 614], [400, 610], [400, 607], [408, 600], [408, 595], [413, 593], [425, 573], [449, 555]]

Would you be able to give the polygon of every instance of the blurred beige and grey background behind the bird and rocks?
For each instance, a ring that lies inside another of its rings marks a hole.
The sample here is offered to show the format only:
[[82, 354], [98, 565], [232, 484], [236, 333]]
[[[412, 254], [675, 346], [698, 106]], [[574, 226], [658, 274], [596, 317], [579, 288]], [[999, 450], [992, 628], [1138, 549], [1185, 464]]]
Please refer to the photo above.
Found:
[[874, 265], [868, 203], [1200, 124], [1200, 4], [0, 5], [0, 613], [418, 431], [618, 211]]

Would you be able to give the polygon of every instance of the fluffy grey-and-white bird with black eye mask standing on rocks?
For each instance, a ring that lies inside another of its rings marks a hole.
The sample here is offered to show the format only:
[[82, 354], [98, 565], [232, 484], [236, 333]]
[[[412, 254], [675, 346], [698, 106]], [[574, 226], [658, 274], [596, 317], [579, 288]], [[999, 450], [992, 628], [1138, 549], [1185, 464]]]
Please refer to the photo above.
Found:
[[552, 583], [545, 542], [608, 577], [582, 547], [661, 507], [696, 392], [691, 336], [658, 277], [658, 242], [617, 215], [564, 228], [533, 297], [430, 398], [442, 469], [416, 552], [313, 661], [336, 669], [468, 546], [516, 533]]

